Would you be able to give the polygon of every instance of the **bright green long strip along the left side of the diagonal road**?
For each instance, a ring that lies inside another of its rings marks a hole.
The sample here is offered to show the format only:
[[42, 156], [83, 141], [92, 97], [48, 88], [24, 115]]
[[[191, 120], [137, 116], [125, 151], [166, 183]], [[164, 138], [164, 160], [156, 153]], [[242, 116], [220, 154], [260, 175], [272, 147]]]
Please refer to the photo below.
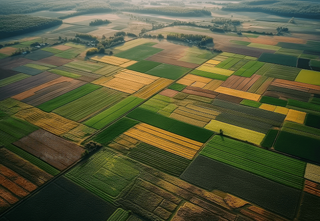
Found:
[[84, 124], [96, 129], [101, 129], [102, 127], [116, 120], [121, 115], [130, 111], [132, 108], [140, 104], [142, 101], [144, 100], [138, 97], [127, 97], [125, 100], [115, 104], [111, 108], [108, 108], [105, 111], [102, 111], [96, 116], [90, 118]]

